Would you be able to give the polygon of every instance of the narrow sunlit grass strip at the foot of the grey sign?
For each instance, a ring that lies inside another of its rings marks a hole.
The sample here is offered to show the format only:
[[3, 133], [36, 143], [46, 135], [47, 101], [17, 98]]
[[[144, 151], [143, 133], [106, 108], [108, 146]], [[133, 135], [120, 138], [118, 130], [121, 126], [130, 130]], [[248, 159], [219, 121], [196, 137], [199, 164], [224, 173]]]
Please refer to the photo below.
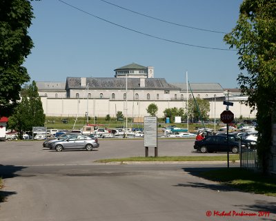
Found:
[[[239, 160], [239, 155], [230, 155], [229, 161]], [[164, 157], [125, 157], [115, 159], [103, 159], [95, 162], [186, 162], [186, 161], [227, 161], [226, 155], [221, 156], [164, 156]]]

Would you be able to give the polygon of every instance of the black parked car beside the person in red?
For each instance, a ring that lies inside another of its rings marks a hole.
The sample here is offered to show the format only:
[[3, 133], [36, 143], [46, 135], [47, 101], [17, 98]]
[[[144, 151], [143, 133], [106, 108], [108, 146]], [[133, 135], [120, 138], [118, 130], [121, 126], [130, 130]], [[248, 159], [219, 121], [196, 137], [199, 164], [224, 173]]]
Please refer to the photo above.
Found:
[[[227, 151], [238, 153], [239, 141], [234, 136], [229, 136], [227, 142], [227, 136], [225, 135], [212, 135], [205, 137], [204, 140], [196, 140], [194, 148], [201, 153]], [[242, 148], [247, 148], [246, 144], [242, 143]]]

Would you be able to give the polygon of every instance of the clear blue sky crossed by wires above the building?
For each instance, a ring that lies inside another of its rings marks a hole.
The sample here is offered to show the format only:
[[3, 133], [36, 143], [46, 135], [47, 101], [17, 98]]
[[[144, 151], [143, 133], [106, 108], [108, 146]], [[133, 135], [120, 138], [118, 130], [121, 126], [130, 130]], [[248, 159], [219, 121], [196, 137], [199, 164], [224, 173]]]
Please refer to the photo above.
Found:
[[[59, 0], [32, 1], [35, 19], [29, 35], [34, 48], [24, 66], [34, 81], [114, 77], [116, 68], [134, 62], [153, 66], [155, 78], [165, 78], [169, 83], [185, 82], [187, 71], [190, 83], [238, 87], [237, 52], [227, 50], [224, 34], [183, 26], [230, 32], [242, 0], [63, 1], [80, 10]], [[137, 15], [110, 3], [183, 26]]]

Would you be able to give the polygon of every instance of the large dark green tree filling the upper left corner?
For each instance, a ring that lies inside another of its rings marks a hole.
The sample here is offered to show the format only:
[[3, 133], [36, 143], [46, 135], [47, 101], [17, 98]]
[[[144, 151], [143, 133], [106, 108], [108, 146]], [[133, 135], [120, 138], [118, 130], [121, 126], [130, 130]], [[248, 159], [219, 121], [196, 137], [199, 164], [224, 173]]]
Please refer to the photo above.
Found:
[[21, 86], [30, 80], [22, 66], [33, 47], [28, 36], [33, 18], [28, 0], [0, 1], [0, 115], [9, 117], [17, 106]]

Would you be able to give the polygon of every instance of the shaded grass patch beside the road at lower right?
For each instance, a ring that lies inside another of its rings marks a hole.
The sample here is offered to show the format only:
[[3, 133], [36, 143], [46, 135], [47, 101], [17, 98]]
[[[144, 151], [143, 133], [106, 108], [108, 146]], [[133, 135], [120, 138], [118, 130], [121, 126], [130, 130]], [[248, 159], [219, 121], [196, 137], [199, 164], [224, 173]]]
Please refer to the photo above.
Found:
[[200, 176], [250, 193], [276, 196], [276, 177], [240, 168], [204, 171]]

